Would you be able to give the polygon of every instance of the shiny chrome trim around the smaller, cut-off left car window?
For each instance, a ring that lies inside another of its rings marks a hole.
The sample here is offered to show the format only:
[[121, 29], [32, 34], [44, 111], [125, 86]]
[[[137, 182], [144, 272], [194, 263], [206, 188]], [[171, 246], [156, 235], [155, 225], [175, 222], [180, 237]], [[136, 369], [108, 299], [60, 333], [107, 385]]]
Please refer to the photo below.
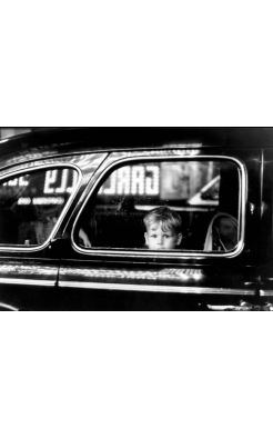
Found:
[[[31, 163], [29, 163], [29, 166], [31, 167]], [[68, 168], [71, 169], [72, 168], [72, 169], [74, 169], [78, 172], [78, 176], [79, 176], [79, 181], [77, 183], [77, 187], [75, 187], [74, 191], [70, 194], [70, 197], [69, 197], [69, 199], [68, 199], [68, 201], [67, 201], [67, 203], [65, 203], [65, 206], [64, 206], [64, 208], [63, 208], [63, 210], [62, 210], [62, 212], [61, 212], [61, 214], [60, 214], [60, 217], [59, 217], [59, 219], [58, 219], [58, 221], [57, 221], [57, 223], [54, 226], [54, 228], [51, 231], [51, 235], [49, 236], [47, 241], [44, 241], [40, 246], [38, 245], [38, 246], [33, 246], [33, 247], [21, 247], [21, 246], [17, 246], [17, 245], [10, 245], [8, 247], [8, 246], [1, 246], [0, 245], [0, 251], [10, 251], [10, 252], [12, 252], [12, 251], [13, 252], [23, 251], [23, 252], [27, 252], [27, 253], [31, 253], [31, 252], [37, 252], [37, 251], [43, 250], [49, 245], [49, 242], [51, 241], [51, 239], [55, 235], [55, 232], [59, 230], [59, 228], [60, 228], [60, 226], [62, 223], [62, 220], [63, 220], [64, 216], [67, 214], [70, 206], [72, 204], [73, 199], [75, 198], [75, 194], [77, 194], [77, 192], [78, 192], [78, 190], [79, 190], [79, 188], [80, 188], [80, 186], [82, 183], [82, 171], [75, 164], [70, 164], [70, 163], [63, 163], [62, 164], [60, 162], [58, 162], [55, 164], [51, 162], [51, 163], [41, 164], [41, 166], [38, 166], [38, 167], [33, 166], [33, 168], [31, 168], [30, 171], [31, 172], [32, 171], [36, 172], [36, 171], [39, 171], [39, 170], [42, 170], [42, 169], [50, 169], [50, 168], [54, 168], [54, 169], [55, 168], [63, 168], [63, 169], [68, 169]], [[27, 171], [27, 169], [22, 169], [22, 170], [17, 170], [17, 171], [13, 171], [13, 172], [4, 173], [3, 176], [0, 177], [0, 182], [1, 182], [1, 180], [6, 179], [6, 178], [12, 178], [14, 176], [21, 174], [23, 171]]]

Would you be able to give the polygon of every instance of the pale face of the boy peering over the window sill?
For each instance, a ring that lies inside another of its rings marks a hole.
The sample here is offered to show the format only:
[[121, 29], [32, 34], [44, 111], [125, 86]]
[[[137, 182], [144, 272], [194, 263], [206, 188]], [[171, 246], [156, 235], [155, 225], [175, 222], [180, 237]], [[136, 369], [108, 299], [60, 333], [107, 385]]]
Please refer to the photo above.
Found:
[[145, 232], [145, 243], [150, 250], [172, 250], [181, 243], [182, 235], [173, 230], [163, 231], [160, 223], [151, 225]]

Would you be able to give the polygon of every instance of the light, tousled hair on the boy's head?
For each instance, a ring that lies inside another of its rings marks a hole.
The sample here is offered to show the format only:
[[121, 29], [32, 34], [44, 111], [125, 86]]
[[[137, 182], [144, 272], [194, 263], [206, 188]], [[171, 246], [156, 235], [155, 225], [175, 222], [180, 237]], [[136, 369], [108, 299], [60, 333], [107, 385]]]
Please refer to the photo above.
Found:
[[144, 218], [146, 230], [152, 223], [160, 223], [163, 231], [174, 230], [181, 232], [182, 220], [179, 213], [168, 207], [160, 207], [151, 210]]

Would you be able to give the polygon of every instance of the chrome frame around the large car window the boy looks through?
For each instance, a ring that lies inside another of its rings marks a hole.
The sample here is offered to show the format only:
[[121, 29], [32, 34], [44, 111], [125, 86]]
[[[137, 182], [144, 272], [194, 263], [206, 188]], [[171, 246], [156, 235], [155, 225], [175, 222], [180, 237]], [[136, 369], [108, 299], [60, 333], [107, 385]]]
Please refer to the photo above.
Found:
[[[148, 152], [143, 151], [130, 151], [130, 152], [124, 152], [124, 153], [111, 153], [109, 158], [105, 160], [104, 169], [99, 173], [99, 177], [97, 178], [97, 173], [94, 173], [92, 178], [92, 186], [90, 187], [90, 192], [88, 197], [85, 198], [75, 220], [72, 227], [72, 232], [71, 232], [71, 243], [72, 248], [80, 255], [82, 256], [104, 256], [104, 257], [130, 257], [134, 259], [143, 259], [143, 258], [150, 258], [151, 260], [154, 259], [195, 259], [195, 260], [202, 260], [204, 258], [210, 258], [210, 259], [218, 259], [218, 258], [224, 258], [224, 259], [231, 259], [237, 257], [244, 248], [244, 238], [245, 238], [245, 206], [246, 206], [246, 184], [247, 184], [247, 173], [246, 173], [246, 168], [245, 164], [230, 156], [219, 156], [219, 154], [203, 154], [200, 153], [200, 150], [192, 149], [190, 150], [189, 147], [186, 151], [184, 149], [179, 149], [182, 146], [170, 146], [169, 150], [151, 150]], [[192, 146], [193, 148], [196, 148], [198, 146]], [[165, 147], [168, 148], [168, 147]], [[178, 148], [178, 149], [176, 149]], [[212, 147], [213, 148], [213, 147]], [[200, 154], [199, 154], [200, 153]], [[240, 239], [237, 242], [236, 248], [233, 251], [226, 252], [226, 253], [213, 253], [213, 252], [208, 252], [208, 251], [182, 251], [182, 252], [172, 252], [172, 251], [150, 251], [150, 250], [127, 250], [124, 248], [121, 249], [109, 249], [105, 248], [103, 250], [101, 247], [94, 247], [91, 249], [84, 249], [81, 248], [77, 245], [74, 241], [74, 233], [75, 233], [75, 228], [78, 225], [78, 221], [82, 214], [83, 209], [85, 208], [89, 199], [92, 197], [93, 192], [100, 186], [101, 181], [103, 180], [104, 176], [109, 172], [111, 172], [111, 169], [117, 169], [120, 166], [127, 164], [127, 163], [133, 163], [133, 162], [140, 162], [143, 160], [143, 162], [149, 162], [149, 161], [174, 161], [175, 159], [181, 159], [181, 160], [186, 160], [186, 161], [199, 161], [199, 160], [208, 160], [208, 161], [230, 161], [236, 164], [237, 170], [240, 170], [240, 181], [239, 181], [239, 226], [240, 226]]]

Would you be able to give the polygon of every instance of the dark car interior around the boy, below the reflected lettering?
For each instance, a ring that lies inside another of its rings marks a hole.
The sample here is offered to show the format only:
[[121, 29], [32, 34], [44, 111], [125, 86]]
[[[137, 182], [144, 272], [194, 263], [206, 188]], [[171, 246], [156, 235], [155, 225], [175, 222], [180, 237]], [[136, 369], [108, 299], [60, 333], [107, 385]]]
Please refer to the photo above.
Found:
[[[160, 163], [158, 163], [160, 164]], [[206, 164], [206, 163], [205, 163]], [[152, 197], [143, 193], [128, 194], [102, 194], [97, 190], [89, 199], [78, 223], [78, 233], [81, 228], [87, 231], [92, 247], [114, 249], [145, 249], [144, 245], [144, 216], [159, 206], [166, 206], [175, 210], [182, 219], [182, 243], [179, 251], [230, 251], [231, 246], [208, 247], [208, 235], [210, 233], [212, 219], [222, 212], [226, 218], [234, 218], [237, 223], [240, 206], [240, 178], [239, 170], [233, 163], [213, 163], [209, 189], [198, 188], [193, 197], [185, 199], [171, 199]], [[216, 173], [216, 176], [215, 176]], [[182, 183], [185, 179], [182, 179]], [[160, 190], [164, 180], [160, 181]], [[205, 184], [208, 187], [208, 183]], [[100, 187], [101, 188], [101, 187]], [[182, 192], [185, 192], [183, 189]], [[196, 194], [199, 197], [196, 197]], [[194, 203], [191, 200], [195, 200]], [[198, 199], [198, 200], [196, 200]], [[228, 221], [226, 221], [228, 222]], [[226, 225], [225, 225], [226, 226]], [[229, 225], [228, 225], [229, 226]], [[221, 226], [222, 227], [222, 226]], [[215, 227], [213, 231], [218, 230]], [[218, 231], [219, 236], [219, 231]], [[81, 247], [84, 245], [78, 239]], [[229, 247], [229, 249], [228, 249]]]

